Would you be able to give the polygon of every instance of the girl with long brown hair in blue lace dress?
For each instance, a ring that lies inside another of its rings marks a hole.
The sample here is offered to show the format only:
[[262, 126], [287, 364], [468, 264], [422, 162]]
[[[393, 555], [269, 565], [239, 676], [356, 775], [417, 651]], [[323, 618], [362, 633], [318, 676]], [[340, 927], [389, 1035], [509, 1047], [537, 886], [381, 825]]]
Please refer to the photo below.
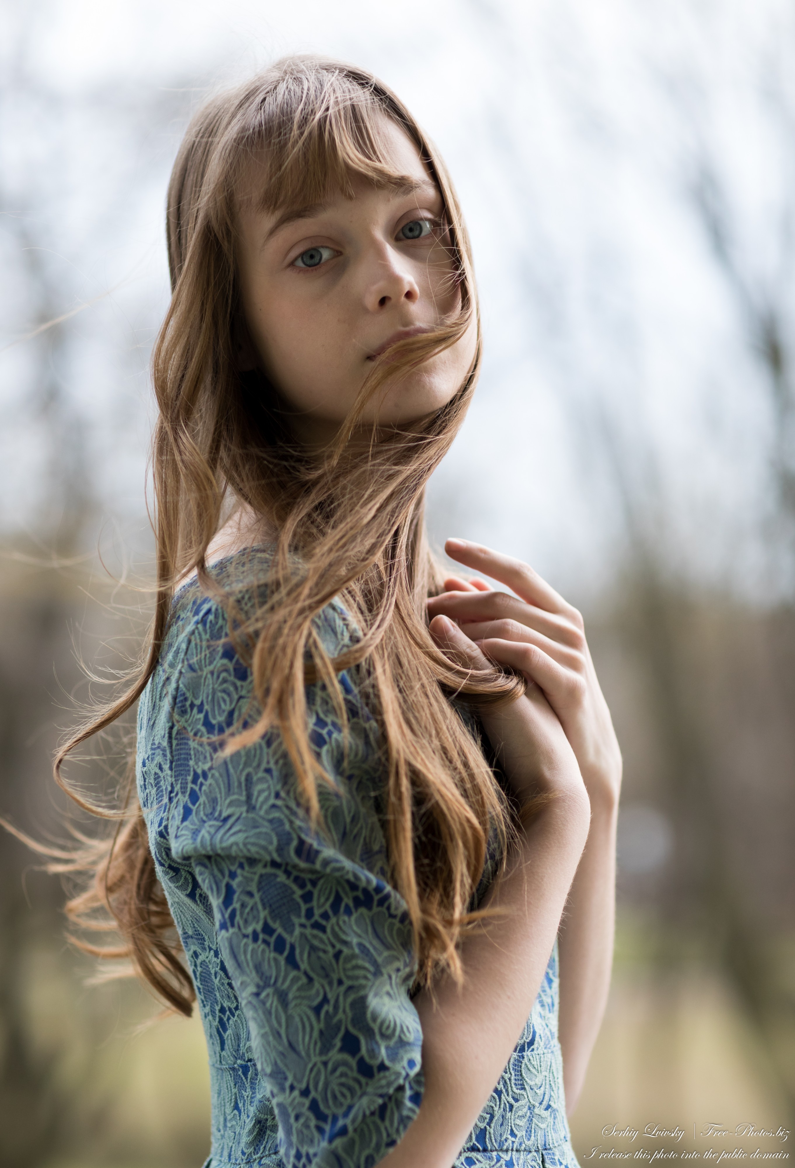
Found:
[[579, 614], [427, 548], [481, 352], [444, 165], [291, 57], [194, 118], [168, 250], [148, 654], [56, 764], [140, 698], [138, 802], [71, 911], [197, 999], [212, 1168], [573, 1168], [621, 762]]

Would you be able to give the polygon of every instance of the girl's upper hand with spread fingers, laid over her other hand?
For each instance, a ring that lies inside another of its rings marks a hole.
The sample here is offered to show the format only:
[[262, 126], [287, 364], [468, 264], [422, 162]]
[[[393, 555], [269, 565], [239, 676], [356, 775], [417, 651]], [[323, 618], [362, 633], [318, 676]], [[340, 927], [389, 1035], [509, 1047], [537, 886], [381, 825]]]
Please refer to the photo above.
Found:
[[616, 804], [621, 750], [579, 612], [518, 559], [463, 540], [448, 540], [445, 551], [516, 596], [449, 577], [447, 591], [428, 600], [432, 630], [437, 618], [449, 618], [487, 658], [534, 682], [560, 721], [592, 801]]

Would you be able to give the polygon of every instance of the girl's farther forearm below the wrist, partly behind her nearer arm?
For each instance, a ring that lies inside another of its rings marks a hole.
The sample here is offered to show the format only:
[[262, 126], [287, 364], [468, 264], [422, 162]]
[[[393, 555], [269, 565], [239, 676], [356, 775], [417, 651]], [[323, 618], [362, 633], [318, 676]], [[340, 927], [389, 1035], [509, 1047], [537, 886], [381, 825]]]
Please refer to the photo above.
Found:
[[601, 1026], [613, 965], [618, 794], [592, 797], [591, 827], [558, 938], [559, 1037], [566, 1110], [577, 1106]]

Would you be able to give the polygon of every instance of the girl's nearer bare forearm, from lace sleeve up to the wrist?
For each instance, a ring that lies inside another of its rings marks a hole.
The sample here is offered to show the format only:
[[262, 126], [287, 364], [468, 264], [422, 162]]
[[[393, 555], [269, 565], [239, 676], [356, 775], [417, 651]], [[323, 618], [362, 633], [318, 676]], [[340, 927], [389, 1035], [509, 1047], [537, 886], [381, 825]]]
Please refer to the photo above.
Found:
[[542, 812], [484, 901], [504, 915], [461, 945], [463, 986], [444, 975], [414, 999], [423, 1104], [385, 1168], [448, 1168], [460, 1152], [538, 995], [586, 833], [584, 792]]

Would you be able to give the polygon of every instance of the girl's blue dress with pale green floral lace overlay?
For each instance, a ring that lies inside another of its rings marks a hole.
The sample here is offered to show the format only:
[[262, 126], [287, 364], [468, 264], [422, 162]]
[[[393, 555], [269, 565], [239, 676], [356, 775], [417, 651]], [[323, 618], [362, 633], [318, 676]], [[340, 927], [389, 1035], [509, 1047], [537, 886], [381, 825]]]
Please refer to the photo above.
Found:
[[[249, 549], [212, 571], [245, 605], [266, 566]], [[337, 603], [318, 631], [332, 654], [350, 644]], [[378, 813], [378, 729], [353, 677], [340, 680], [347, 751], [327, 690], [307, 687], [311, 742], [339, 784], [320, 785], [327, 835], [308, 826], [277, 732], [218, 757], [218, 739], [251, 714], [251, 675], [196, 582], [177, 593], [141, 696], [138, 793], [207, 1035], [211, 1168], [371, 1168], [423, 1098], [411, 929]], [[556, 945], [456, 1168], [578, 1168], [557, 1003]]]

